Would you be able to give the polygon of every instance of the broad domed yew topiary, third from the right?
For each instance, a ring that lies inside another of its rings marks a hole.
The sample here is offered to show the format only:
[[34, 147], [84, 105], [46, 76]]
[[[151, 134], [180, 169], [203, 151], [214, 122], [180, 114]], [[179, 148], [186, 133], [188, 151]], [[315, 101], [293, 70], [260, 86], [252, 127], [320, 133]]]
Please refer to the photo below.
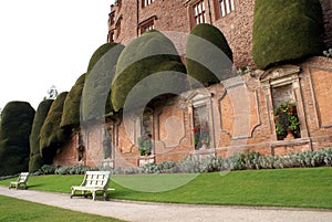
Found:
[[[136, 92], [145, 92], [136, 95], [138, 99], [143, 96], [149, 96], [148, 94], [160, 87], [160, 85], [165, 87], [165, 91], [167, 87], [169, 91], [172, 91], [172, 87], [186, 89], [185, 84], [178, 84], [179, 81], [174, 80], [174, 83], [179, 86], [164, 82], [163, 77], [166, 77], [166, 75], [156, 76], [145, 83], [141, 82], [147, 76], [162, 72], [168, 73], [167, 78], [173, 77], [169, 72], [181, 73], [186, 76], [186, 67], [181, 63], [173, 42], [155, 30], [133, 40], [121, 53], [116, 65], [111, 93], [114, 109], [117, 112], [124, 107], [127, 95], [134, 86], [138, 88]], [[138, 84], [138, 82], [142, 84]], [[144, 99], [142, 98], [142, 101]]]

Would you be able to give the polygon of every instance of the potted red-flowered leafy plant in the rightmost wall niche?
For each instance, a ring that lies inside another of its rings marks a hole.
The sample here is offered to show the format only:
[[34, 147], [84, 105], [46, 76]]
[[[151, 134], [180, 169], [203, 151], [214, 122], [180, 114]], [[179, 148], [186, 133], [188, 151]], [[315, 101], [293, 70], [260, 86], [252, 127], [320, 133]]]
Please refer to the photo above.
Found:
[[300, 120], [295, 103], [280, 104], [274, 109], [274, 123], [278, 140], [300, 138]]

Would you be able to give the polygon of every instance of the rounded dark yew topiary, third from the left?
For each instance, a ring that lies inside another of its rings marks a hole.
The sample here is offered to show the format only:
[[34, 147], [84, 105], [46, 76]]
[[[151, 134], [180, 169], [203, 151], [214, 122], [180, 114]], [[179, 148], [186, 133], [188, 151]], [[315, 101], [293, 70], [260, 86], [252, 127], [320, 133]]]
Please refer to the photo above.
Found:
[[71, 136], [70, 129], [60, 127], [66, 95], [68, 92], [58, 95], [40, 131], [40, 154], [45, 160], [45, 163], [52, 163], [54, 156], [61, 151], [62, 145], [65, 144]]

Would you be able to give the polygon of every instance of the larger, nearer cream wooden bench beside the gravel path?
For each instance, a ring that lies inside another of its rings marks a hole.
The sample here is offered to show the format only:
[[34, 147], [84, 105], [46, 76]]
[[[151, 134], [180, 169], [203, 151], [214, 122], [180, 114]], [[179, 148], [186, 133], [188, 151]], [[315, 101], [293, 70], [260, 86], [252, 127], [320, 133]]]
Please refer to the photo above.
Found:
[[[113, 188], [108, 188], [111, 179], [110, 171], [86, 171], [83, 182], [80, 186], [72, 186], [72, 194], [71, 198], [75, 195], [84, 195], [87, 197], [87, 192], [92, 193], [92, 199], [95, 200], [96, 192], [102, 191], [104, 200], [107, 198], [108, 190], [115, 190]], [[76, 194], [76, 191], [81, 191], [80, 194]]]

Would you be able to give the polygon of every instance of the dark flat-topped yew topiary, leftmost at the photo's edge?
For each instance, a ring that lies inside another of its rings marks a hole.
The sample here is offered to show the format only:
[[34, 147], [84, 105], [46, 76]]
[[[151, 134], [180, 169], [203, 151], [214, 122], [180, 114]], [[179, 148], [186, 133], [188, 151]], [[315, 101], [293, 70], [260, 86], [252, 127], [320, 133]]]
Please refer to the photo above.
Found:
[[4, 106], [0, 125], [0, 176], [28, 170], [34, 113], [27, 102], [10, 102]]

